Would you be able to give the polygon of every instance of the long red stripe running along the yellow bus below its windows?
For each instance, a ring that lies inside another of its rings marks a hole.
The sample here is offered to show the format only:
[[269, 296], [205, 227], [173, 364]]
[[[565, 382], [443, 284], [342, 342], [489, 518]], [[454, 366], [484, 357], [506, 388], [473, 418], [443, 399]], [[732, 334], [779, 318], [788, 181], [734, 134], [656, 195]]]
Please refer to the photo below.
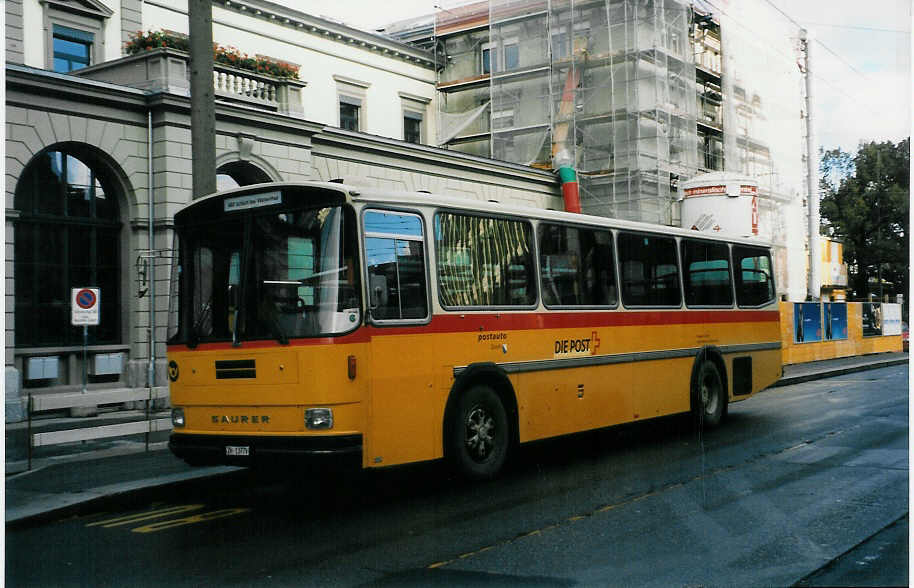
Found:
[[[527, 331], [535, 329], [581, 329], [597, 327], [643, 327], [694, 325], [700, 323], [768, 323], [780, 320], [777, 310], [652, 310], [652, 311], [587, 311], [549, 313], [449, 313], [437, 315], [424, 325], [367, 326], [349, 335], [293, 339], [289, 346], [367, 343], [371, 337], [385, 335], [422, 335], [431, 333], [469, 333], [485, 331]], [[284, 347], [275, 340], [245, 341], [244, 349]], [[170, 345], [169, 351], [188, 351], [187, 345]], [[238, 349], [230, 341], [201, 343], [195, 350]]]

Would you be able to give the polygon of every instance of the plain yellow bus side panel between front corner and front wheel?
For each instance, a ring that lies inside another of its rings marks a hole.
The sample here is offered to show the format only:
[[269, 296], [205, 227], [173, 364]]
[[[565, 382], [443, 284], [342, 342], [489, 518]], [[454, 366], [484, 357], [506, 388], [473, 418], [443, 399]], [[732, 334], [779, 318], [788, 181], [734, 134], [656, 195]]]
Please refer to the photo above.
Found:
[[441, 456], [444, 399], [434, 386], [438, 337], [371, 339], [371, 385], [363, 465], [384, 467]]

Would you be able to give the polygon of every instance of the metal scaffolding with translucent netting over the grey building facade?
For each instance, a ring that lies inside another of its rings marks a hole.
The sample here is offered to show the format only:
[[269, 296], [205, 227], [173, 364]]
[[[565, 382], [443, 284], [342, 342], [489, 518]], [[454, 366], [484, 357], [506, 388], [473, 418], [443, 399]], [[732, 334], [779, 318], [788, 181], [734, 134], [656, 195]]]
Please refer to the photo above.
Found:
[[[487, 28], [452, 34], [486, 8]], [[491, 0], [439, 12], [441, 142], [545, 169], [561, 153], [578, 170], [585, 212], [671, 224], [679, 178], [699, 169], [689, 21], [676, 0]]]

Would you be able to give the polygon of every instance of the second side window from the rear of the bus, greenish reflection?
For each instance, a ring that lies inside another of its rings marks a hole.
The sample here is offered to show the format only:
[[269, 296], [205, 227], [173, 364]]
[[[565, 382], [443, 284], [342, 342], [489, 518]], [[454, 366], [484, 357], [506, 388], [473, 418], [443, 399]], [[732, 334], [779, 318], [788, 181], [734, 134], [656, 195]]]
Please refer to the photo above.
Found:
[[684, 240], [682, 283], [687, 306], [732, 306], [730, 250], [727, 245]]

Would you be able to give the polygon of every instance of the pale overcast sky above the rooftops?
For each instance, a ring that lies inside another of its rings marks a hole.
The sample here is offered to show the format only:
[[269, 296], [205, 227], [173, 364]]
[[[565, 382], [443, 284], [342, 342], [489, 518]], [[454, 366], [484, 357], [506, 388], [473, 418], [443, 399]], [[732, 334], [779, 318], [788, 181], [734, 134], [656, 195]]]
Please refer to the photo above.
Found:
[[[430, 14], [436, 4], [451, 7], [460, 3], [299, 0], [298, 6], [303, 12], [373, 30], [392, 21]], [[813, 46], [813, 112], [821, 146], [840, 146], [853, 153], [861, 140], [897, 142], [911, 134], [911, 0], [769, 3], [809, 28], [820, 41]]]

